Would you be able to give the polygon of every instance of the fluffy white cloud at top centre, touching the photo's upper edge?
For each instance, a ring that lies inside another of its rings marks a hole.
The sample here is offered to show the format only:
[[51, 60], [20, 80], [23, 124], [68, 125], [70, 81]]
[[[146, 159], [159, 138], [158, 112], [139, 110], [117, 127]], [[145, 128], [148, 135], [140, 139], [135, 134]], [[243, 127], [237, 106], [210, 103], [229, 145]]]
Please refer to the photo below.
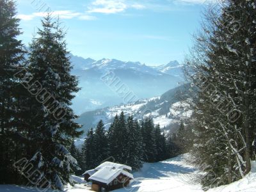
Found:
[[120, 13], [124, 12], [128, 8], [134, 8], [136, 10], [144, 9], [145, 6], [139, 3], [131, 3], [131, 1], [125, 0], [95, 0], [88, 7], [89, 13]]

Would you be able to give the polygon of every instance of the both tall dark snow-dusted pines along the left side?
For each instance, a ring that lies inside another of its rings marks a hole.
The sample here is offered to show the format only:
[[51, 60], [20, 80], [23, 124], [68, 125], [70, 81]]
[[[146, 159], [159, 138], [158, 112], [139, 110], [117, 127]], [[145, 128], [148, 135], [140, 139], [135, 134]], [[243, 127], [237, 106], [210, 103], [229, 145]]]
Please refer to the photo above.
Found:
[[67, 147], [82, 133], [65, 33], [47, 15], [28, 52], [15, 14], [12, 0], [0, 0], [0, 184], [63, 190], [77, 168]]

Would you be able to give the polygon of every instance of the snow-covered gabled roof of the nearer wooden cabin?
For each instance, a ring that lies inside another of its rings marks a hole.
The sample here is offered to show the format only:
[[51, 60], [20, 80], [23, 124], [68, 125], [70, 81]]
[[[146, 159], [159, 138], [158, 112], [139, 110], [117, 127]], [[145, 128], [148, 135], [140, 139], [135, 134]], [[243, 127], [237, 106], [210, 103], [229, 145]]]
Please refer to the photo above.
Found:
[[120, 173], [129, 177], [130, 179], [133, 179], [133, 175], [131, 173], [126, 172], [125, 170], [122, 170], [120, 168], [113, 168], [113, 166], [103, 166], [102, 168], [100, 168], [100, 170], [98, 170], [91, 177], [89, 177], [89, 179], [103, 182], [108, 185], [112, 180], [120, 175]]

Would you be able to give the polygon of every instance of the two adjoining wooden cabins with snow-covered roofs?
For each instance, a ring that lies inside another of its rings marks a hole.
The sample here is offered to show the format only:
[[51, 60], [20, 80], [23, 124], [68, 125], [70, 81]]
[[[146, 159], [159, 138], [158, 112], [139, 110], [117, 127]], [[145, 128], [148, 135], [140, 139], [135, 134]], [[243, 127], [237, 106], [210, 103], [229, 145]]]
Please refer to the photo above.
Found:
[[92, 181], [93, 191], [111, 191], [129, 185], [133, 179], [131, 170], [132, 168], [125, 164], [106, 161], [95, 169], [84, 172], [83, 175], [84, 180]]

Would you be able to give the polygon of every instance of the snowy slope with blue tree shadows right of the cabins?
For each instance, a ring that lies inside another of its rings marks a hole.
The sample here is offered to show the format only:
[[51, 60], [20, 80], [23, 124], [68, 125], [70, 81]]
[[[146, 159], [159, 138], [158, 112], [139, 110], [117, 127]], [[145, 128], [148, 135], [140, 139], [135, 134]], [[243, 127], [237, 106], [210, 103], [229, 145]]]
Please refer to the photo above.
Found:
[[[185, 162], [186, 155], [161, 161], [145, 163], [140, 172], [134, 173], [134, 181], [129, 191], [202, 191], [200, 185], [189, 184], [188, 178], [198, 173], [193, 166]], [[127, 189], [117, 189], [124, 192]]]

